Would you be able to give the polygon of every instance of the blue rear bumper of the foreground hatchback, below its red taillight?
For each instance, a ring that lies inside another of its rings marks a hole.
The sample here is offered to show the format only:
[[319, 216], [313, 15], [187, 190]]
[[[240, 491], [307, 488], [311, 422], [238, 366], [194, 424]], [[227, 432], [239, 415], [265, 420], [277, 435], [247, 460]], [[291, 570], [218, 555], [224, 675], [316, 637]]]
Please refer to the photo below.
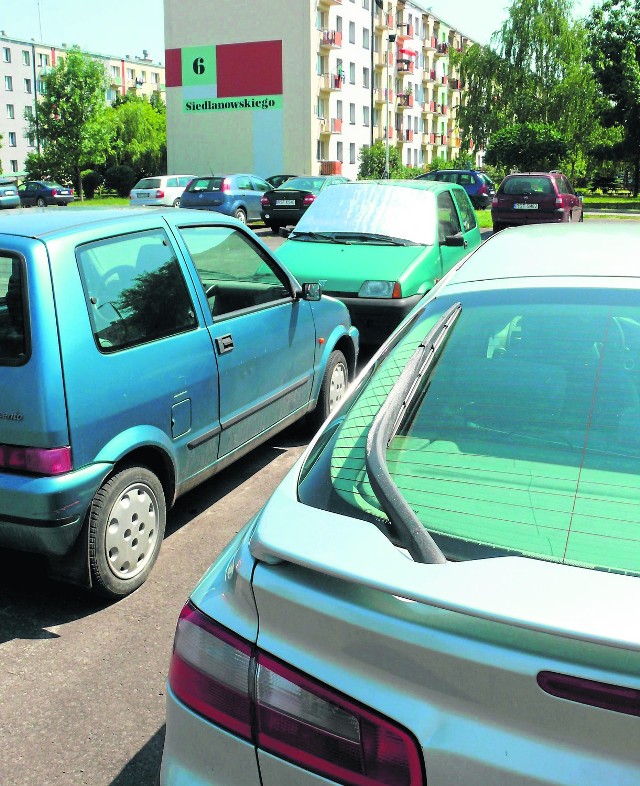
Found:
[[66, 554], [111, 464], [57, 477], [0, 473], [0, 546], [47, 556]]

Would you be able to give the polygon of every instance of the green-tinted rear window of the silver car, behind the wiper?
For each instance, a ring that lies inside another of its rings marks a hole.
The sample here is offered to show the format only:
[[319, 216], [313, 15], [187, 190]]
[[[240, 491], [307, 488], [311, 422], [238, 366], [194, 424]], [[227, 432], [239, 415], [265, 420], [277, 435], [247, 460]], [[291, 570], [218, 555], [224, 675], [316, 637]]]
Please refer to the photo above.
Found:
[[[640, 307], [623, 292], [462, 299], [386, 454], [449, 559], [519, 554], [640, 575]], [[633, 293], [631, 293], [633, 294]], [[382, 402], [452, 302], [382, 360], [303, 468], [302, 502], [388, 521], [365, 466]]]

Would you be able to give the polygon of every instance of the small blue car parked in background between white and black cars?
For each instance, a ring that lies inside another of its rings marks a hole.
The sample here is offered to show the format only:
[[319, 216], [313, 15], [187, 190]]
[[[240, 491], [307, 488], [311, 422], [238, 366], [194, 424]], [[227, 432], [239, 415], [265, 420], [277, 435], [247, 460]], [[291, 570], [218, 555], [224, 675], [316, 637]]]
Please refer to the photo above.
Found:
[[194, 177], [182, 192], [180, 207], [214, 210], [246, 224], [260, 218], [262, 195], [272, 185], [256, 175], [205, 175]]

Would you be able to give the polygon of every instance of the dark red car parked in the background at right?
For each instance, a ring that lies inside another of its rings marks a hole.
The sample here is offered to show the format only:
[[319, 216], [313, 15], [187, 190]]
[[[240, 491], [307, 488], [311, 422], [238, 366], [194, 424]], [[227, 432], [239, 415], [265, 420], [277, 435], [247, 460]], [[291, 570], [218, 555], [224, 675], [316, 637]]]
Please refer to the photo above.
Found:
[[508, 226], [583, 218], [582, 198], [562, 172], [507, 175], [491, 202], [494, 232]]

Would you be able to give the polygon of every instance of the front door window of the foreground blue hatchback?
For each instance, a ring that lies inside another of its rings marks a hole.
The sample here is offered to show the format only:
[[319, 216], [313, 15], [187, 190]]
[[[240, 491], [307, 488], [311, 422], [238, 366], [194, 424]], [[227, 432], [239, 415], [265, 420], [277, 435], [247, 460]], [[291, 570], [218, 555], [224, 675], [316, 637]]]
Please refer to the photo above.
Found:
[[226, 226], [195, 226], [182, 227], [180, 233], [214, 319], [291, 298], [284, 273], [244, 232]]

